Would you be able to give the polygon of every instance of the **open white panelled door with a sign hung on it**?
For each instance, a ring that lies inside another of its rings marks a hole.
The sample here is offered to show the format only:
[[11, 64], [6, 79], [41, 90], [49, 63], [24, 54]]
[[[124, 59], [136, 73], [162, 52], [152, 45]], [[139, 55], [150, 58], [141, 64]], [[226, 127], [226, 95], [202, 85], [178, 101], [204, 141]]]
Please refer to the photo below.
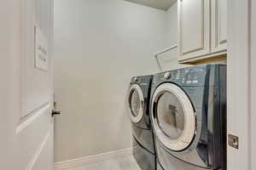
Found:
[[0, 168], [53, 170], [53, 0], [0, 11]]

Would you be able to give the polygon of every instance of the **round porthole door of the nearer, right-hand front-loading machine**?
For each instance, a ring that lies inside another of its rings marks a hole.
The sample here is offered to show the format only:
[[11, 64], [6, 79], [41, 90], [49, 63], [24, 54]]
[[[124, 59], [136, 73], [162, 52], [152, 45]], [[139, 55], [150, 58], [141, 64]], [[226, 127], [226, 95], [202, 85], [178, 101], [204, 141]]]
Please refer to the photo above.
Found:
[[195, 111], [187, 94], [172, 83], [155, 89], [151, 118], [156, 137], [166, 148], [185, 150], [195, 136]]

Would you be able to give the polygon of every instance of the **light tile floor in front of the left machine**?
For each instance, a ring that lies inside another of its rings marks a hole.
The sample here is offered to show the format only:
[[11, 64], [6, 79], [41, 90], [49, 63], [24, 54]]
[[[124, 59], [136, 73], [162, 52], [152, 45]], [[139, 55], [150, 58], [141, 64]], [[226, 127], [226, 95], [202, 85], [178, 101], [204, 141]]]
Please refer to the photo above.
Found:
[[133, 156], [123, 156], [107, 161], [90, 163], [83, 167], [75, 167], [69, 170], [140, 170], [140, 167], [138, 167]]

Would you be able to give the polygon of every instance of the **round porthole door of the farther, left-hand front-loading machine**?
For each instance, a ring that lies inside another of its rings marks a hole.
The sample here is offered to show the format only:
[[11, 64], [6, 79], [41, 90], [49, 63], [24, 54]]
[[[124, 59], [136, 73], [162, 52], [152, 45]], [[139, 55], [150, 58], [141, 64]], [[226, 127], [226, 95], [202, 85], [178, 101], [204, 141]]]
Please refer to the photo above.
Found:
[[131, 86], [127, 97], [127, 108], [132, 122], [140, 122], [144, 113], [144, 97], [142, 88], [137, 84]]

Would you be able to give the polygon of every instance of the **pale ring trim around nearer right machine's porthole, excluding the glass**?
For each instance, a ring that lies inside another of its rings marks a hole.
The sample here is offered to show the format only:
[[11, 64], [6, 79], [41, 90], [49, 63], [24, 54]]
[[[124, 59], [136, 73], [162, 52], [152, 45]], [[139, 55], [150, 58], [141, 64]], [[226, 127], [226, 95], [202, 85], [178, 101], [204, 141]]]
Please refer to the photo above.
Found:
[[[161, 130], [157, 120], [157, 115], [154, 113], [154, 107], [156, 106], [158, 99], [160, 99], [160, 96], [165, 92], [174, 94], [183, 107], [185, 120], [184, 130], [178, 139], [170, 139], [166, 133]], [[166, 82], [155, 89], [151, 103], [151, 119], [156, 137], [160, 139], [160, 142], [170, 150], [181, 151], [186, 149], [195, 137], [196, 116], [194, 108], [187, 94], [185, 94], [181, 88], [173, 83]]]

